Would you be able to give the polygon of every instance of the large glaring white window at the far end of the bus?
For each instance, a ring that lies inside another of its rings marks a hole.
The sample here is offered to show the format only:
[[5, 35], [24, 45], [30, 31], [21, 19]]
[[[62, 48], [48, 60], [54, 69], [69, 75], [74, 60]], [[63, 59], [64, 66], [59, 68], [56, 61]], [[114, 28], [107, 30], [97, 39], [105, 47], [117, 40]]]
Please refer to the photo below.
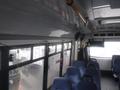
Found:
[[96, 58], [112, 58], [120, 55], [120, 42], [104, 42], [104, 47], [90, 47], [90, 56]]

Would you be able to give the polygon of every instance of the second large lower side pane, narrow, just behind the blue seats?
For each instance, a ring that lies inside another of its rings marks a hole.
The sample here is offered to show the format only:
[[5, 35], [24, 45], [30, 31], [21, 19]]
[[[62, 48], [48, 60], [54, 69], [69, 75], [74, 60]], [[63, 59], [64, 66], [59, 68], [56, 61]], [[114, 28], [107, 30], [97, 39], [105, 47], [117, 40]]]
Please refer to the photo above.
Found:
[[53, 84], [55, 77], [59, 77], [61, 60], [60, 55], [61, 54], [56, 54], [49, 57], [47, 88], [50, 88], [50, 86]]

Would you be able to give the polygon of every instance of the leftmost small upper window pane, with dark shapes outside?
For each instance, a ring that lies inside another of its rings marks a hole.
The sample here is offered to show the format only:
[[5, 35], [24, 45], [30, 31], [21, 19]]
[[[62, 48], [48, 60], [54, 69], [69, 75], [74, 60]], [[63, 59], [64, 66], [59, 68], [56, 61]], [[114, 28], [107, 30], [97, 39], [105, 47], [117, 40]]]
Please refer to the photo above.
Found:
[[10, 60], [9, 65], [18, 64], [28, 61], [31, 58], [31, 48], [12, 49], [9, 51]]

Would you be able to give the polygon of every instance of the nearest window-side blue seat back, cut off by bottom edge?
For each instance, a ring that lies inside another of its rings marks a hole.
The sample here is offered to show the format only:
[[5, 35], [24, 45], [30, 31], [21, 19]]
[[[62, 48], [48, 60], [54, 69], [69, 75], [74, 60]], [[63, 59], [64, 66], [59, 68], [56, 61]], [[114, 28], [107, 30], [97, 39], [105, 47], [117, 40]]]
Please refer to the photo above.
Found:
[[58, 77], [54, 80], [51, 90], [72, 90], [68, 79]]

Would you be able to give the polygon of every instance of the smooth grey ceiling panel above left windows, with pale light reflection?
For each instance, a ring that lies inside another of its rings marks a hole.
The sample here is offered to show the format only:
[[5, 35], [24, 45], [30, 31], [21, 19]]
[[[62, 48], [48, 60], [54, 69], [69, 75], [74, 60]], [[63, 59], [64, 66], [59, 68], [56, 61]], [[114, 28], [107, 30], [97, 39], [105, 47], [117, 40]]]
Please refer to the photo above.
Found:
[[74, 33], [45, 0], [0, 0], [0, 34], [72, 38]]

